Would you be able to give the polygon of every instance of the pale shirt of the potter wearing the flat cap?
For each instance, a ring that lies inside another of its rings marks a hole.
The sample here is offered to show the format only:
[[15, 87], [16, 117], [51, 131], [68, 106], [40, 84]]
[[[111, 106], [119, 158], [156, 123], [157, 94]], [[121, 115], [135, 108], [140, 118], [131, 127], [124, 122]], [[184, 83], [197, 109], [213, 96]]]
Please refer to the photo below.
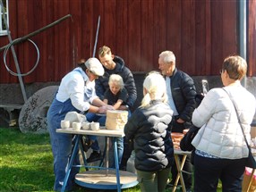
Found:
[[97, 97], [95, 81], [90, 81], [80, 67], [64, 76], [56, 95], [56, 99], [60, 102], [70, 98], [73, 106], [81, 112], [89, 110], [90, 104]]

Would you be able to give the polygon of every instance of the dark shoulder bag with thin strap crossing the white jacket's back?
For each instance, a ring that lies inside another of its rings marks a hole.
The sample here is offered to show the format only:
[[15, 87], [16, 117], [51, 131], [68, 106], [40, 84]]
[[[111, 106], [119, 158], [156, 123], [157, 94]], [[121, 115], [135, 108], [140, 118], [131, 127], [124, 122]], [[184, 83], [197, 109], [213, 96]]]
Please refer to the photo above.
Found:
[[[222, 89], [225, 90], [225, 88], [222, 88]], [[225, 90], [225, 92], [226, 92], [227, 96], [229, 96], [229, 94], [227, 93], [226, 90]], [[234, 101], [231, 99], [230, 96], [229, 96], [229, 98], [230, 98], [230, 100], [232, 101], [232, 103], [233, 103], [233, 105], [234, 105], [234, 107], [235, 107]], [[252, 148], [251, 148], [251, 146], [249, 146], [248, 141], [247, 141], [247, 139], [246, 139], [246, 137], [245, 137], [245, 134], [244, 134], [244, 131], [243, 131], [243, 127], [242, 127], [242, 124], [241, 124], [239, 115], [238, 115], [238, 113], [237, 113], [236, 107], [235, 107], [235, 113], [236, 113], [236, 116], [237, 116], [239, 125], [240, 125], [240, 127], [241, 127], [241, 129], [242, 129], [243, 138], [244, 138], [244, 140], [245, 140], [246, 146], [247, 146], [248, 149], [249, 149], [249, 155], [248, 155], [248, 157], [247, 157], [247, 161], [246, 161], [246, 163], [245, 163], [245, 166], [246, 166], [246, 167], [250, 167], [250, 168], [252, 168], [252, 169], [256, 169], [256, 161], [255, 161], [255, 159], [254, 159], [254, 157], [253, 157], [253, 155], [252, 155]]]

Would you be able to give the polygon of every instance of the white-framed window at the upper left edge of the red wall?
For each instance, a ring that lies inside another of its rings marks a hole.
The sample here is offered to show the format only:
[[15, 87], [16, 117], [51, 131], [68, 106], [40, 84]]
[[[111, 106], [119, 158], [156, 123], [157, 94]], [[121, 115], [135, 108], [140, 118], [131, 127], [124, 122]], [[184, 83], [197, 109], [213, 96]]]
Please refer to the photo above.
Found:
[[[2, 4], [3, 3], [3, 4]], [[4, 9], [2, 8], [4, 6]], [[5, 25], [5, 21], [9, 26], [9, 17], [8, 17], [8, 0], [0, 0], [0, 36], [7, 35], [7, 28]]]

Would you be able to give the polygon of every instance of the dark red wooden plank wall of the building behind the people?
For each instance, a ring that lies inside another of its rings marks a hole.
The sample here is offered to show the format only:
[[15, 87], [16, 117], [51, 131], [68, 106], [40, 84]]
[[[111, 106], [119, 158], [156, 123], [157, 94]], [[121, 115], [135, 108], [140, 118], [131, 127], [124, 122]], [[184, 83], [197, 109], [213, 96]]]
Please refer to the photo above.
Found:
[[[256, 0], [248, 1], [249, 76], [256, 76]], [[238, 54], [236, 0], [9, 0], [10, 30], [21, 38], [72, 14], [31, 38], [39, 49], [38, 67], [25, 83], [60, 81], [81, 59], [93, 54], [98, 16], [98, 47], [107, 45], [135, 72], [158, 70], [158, 54], [172, 50], [177, 67], [191, 76], [218, 75], [223, 59]], [[8, 44], [0, 37], [0, 46]], [[37, 60], [30, 42], [14, 46], [21, 72]], [[18, 83], [0, 53], [0, 83]], [[15, 71], [11, 50], [7, 63]]]

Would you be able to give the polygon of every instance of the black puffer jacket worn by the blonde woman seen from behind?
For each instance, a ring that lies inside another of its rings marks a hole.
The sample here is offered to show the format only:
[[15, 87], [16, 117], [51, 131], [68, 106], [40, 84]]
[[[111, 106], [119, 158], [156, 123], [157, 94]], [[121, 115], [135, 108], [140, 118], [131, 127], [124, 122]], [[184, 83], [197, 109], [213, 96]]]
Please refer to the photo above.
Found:
[[159, 171], [173, 165], [174, 147], [167, 130], [172, 115], [168, 104], [157, 100], [132, 113], [124, 126], [124, 134], [134, 142], [137, 170]]

